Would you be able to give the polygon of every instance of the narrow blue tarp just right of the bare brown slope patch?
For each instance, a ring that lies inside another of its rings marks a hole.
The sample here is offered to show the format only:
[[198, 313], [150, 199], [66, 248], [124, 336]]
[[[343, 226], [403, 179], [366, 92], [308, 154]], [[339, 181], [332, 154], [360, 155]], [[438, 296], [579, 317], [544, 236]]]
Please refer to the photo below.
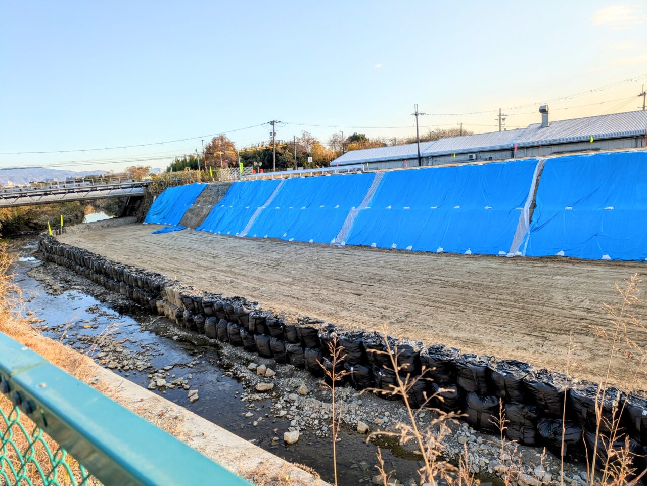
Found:
[[239, 234], [254, 212], [272, 195], [279, 182], [276, 179], [234, 182], [203, 224], [195, 229], [218, 234]]

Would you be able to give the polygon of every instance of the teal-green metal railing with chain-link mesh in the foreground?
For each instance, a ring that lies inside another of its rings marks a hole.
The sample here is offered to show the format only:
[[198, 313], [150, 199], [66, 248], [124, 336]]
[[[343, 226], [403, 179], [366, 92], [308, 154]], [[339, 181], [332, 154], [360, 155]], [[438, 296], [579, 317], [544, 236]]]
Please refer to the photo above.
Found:
[[0, 486], [249, 486], [3, 333], [0, 392]]

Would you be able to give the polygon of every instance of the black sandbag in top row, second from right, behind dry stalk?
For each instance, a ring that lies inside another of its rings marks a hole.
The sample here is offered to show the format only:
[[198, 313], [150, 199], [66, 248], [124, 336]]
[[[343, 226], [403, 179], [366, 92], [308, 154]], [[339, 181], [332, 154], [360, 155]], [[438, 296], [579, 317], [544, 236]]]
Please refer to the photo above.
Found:
[[597, 402], [598, 406], [601, 406], [600, 433], [609, 435], [620, 404], [620, 390], [607, 388], [603, 401], [602, 390], [598, 394], [598, 388], [595, 383], [577, 384], [571, 388], [569, 393], [571, 419], [584, 430], [595, 432], [597, 428], [595, 404]]

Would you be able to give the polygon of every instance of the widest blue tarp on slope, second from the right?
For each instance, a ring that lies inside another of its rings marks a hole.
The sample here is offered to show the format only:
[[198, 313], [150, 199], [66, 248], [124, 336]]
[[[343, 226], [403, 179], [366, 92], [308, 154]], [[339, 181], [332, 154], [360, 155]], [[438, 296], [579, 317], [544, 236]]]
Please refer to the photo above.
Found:
[[345, 242], [508, 254], [536, 164], [530, 159], [388, 172]]

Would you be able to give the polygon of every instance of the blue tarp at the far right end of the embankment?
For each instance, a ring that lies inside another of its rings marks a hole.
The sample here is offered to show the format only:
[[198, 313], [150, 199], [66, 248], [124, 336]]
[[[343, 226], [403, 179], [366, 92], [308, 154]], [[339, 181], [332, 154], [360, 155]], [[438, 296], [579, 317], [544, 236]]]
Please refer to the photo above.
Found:
[[647, 153], [547, 160], [526, 254], [646, 260]]

